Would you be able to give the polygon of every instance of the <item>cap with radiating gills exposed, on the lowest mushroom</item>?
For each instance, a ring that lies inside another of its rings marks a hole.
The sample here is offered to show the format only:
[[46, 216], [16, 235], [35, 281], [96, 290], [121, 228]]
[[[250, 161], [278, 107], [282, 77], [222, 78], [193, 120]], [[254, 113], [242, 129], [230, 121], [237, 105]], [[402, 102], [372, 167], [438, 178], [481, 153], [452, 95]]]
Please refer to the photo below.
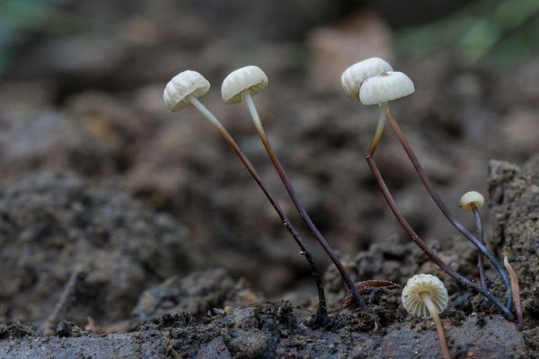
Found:
[[421, 293], [428, 293], [438, 313], [446, 309], [449, 296], [444, 284], [437, 276], [415, 275], [408, 279], [402, 290], [402, 305], [412, 315], [430, 318], [429, 309], [421, 299]]

